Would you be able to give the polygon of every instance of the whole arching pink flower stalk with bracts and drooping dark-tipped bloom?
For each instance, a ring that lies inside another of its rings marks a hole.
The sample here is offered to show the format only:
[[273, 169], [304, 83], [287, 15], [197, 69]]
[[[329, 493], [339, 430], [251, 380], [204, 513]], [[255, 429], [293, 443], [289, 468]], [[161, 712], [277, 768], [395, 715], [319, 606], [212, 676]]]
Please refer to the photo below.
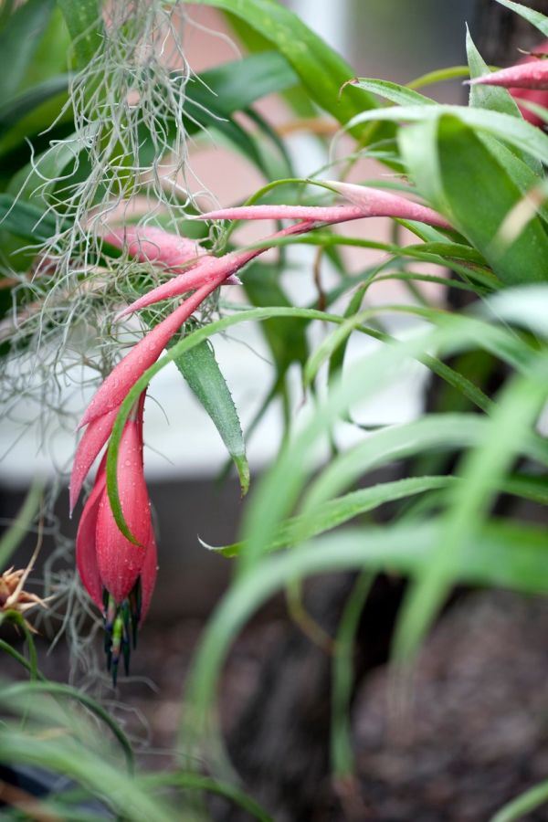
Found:
[[[297, 236], [312, 228], [370, 216], [417, 220], [450, 229], [447, 220], [401, 195], [365, 186], [327, 183], [348, 205], [249, 205], [209, 212], [201, 219], [292, 219], [294, 225], [266, 237], [258, 248], [237, 250], [216, 258], [184, 237], [158, 228], [128, 227], [105, 239], [142, 262], [160, 265], [174, 273], [162, 285], [142, 295], [118, 315], [125, 316], [160, 300], [188, 295], [152, 331], [136, 342], [91, 399], [79, 427], [86, 431], [79, 442], [70, 480], [70, 507], [76, 504], [90, 467], [111, 436], [121, 403], [142, 374], [157, 360], [184, 321], [219, 286], [234, 281], [237, 271], [276, 244], [279, 238]], [[103, 608], [107, 626], [107, 651], [114, 677], [122, 655], [129, 659], [130, 634], [148, 608], [156, 574], [148, 493], [142, 471], [142, 405], [124, 427], [118, 456], [118, 485], [124, 519], [138, 544], [121, 533], [114, 520], [106, 489], [104, 458], [79, 523], [77, 564], [83, 584], [97, 606]]]

